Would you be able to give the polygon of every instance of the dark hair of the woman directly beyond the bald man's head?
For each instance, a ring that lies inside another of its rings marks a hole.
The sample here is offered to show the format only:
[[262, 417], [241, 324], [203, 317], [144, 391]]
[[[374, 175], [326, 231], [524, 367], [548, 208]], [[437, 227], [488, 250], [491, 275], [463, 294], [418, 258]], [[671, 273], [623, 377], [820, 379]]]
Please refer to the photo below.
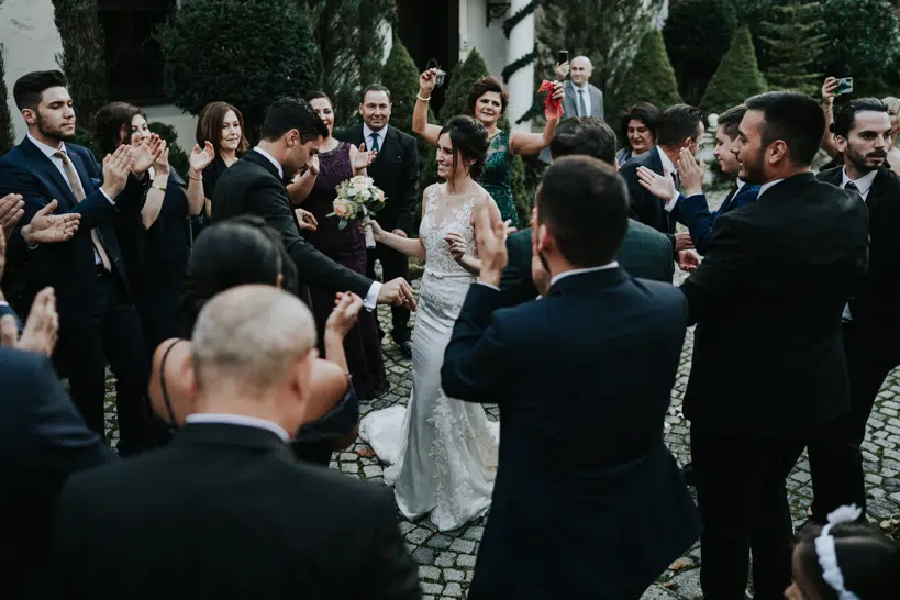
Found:
[[190, 338], [203, 305], [216, 293], [252, 284], [297, 291], [297, 266], [278, 232], [259, 216], [216, 223], [197, 238], [188, 262], [185, 293], [178, 301], [178, 334]]

